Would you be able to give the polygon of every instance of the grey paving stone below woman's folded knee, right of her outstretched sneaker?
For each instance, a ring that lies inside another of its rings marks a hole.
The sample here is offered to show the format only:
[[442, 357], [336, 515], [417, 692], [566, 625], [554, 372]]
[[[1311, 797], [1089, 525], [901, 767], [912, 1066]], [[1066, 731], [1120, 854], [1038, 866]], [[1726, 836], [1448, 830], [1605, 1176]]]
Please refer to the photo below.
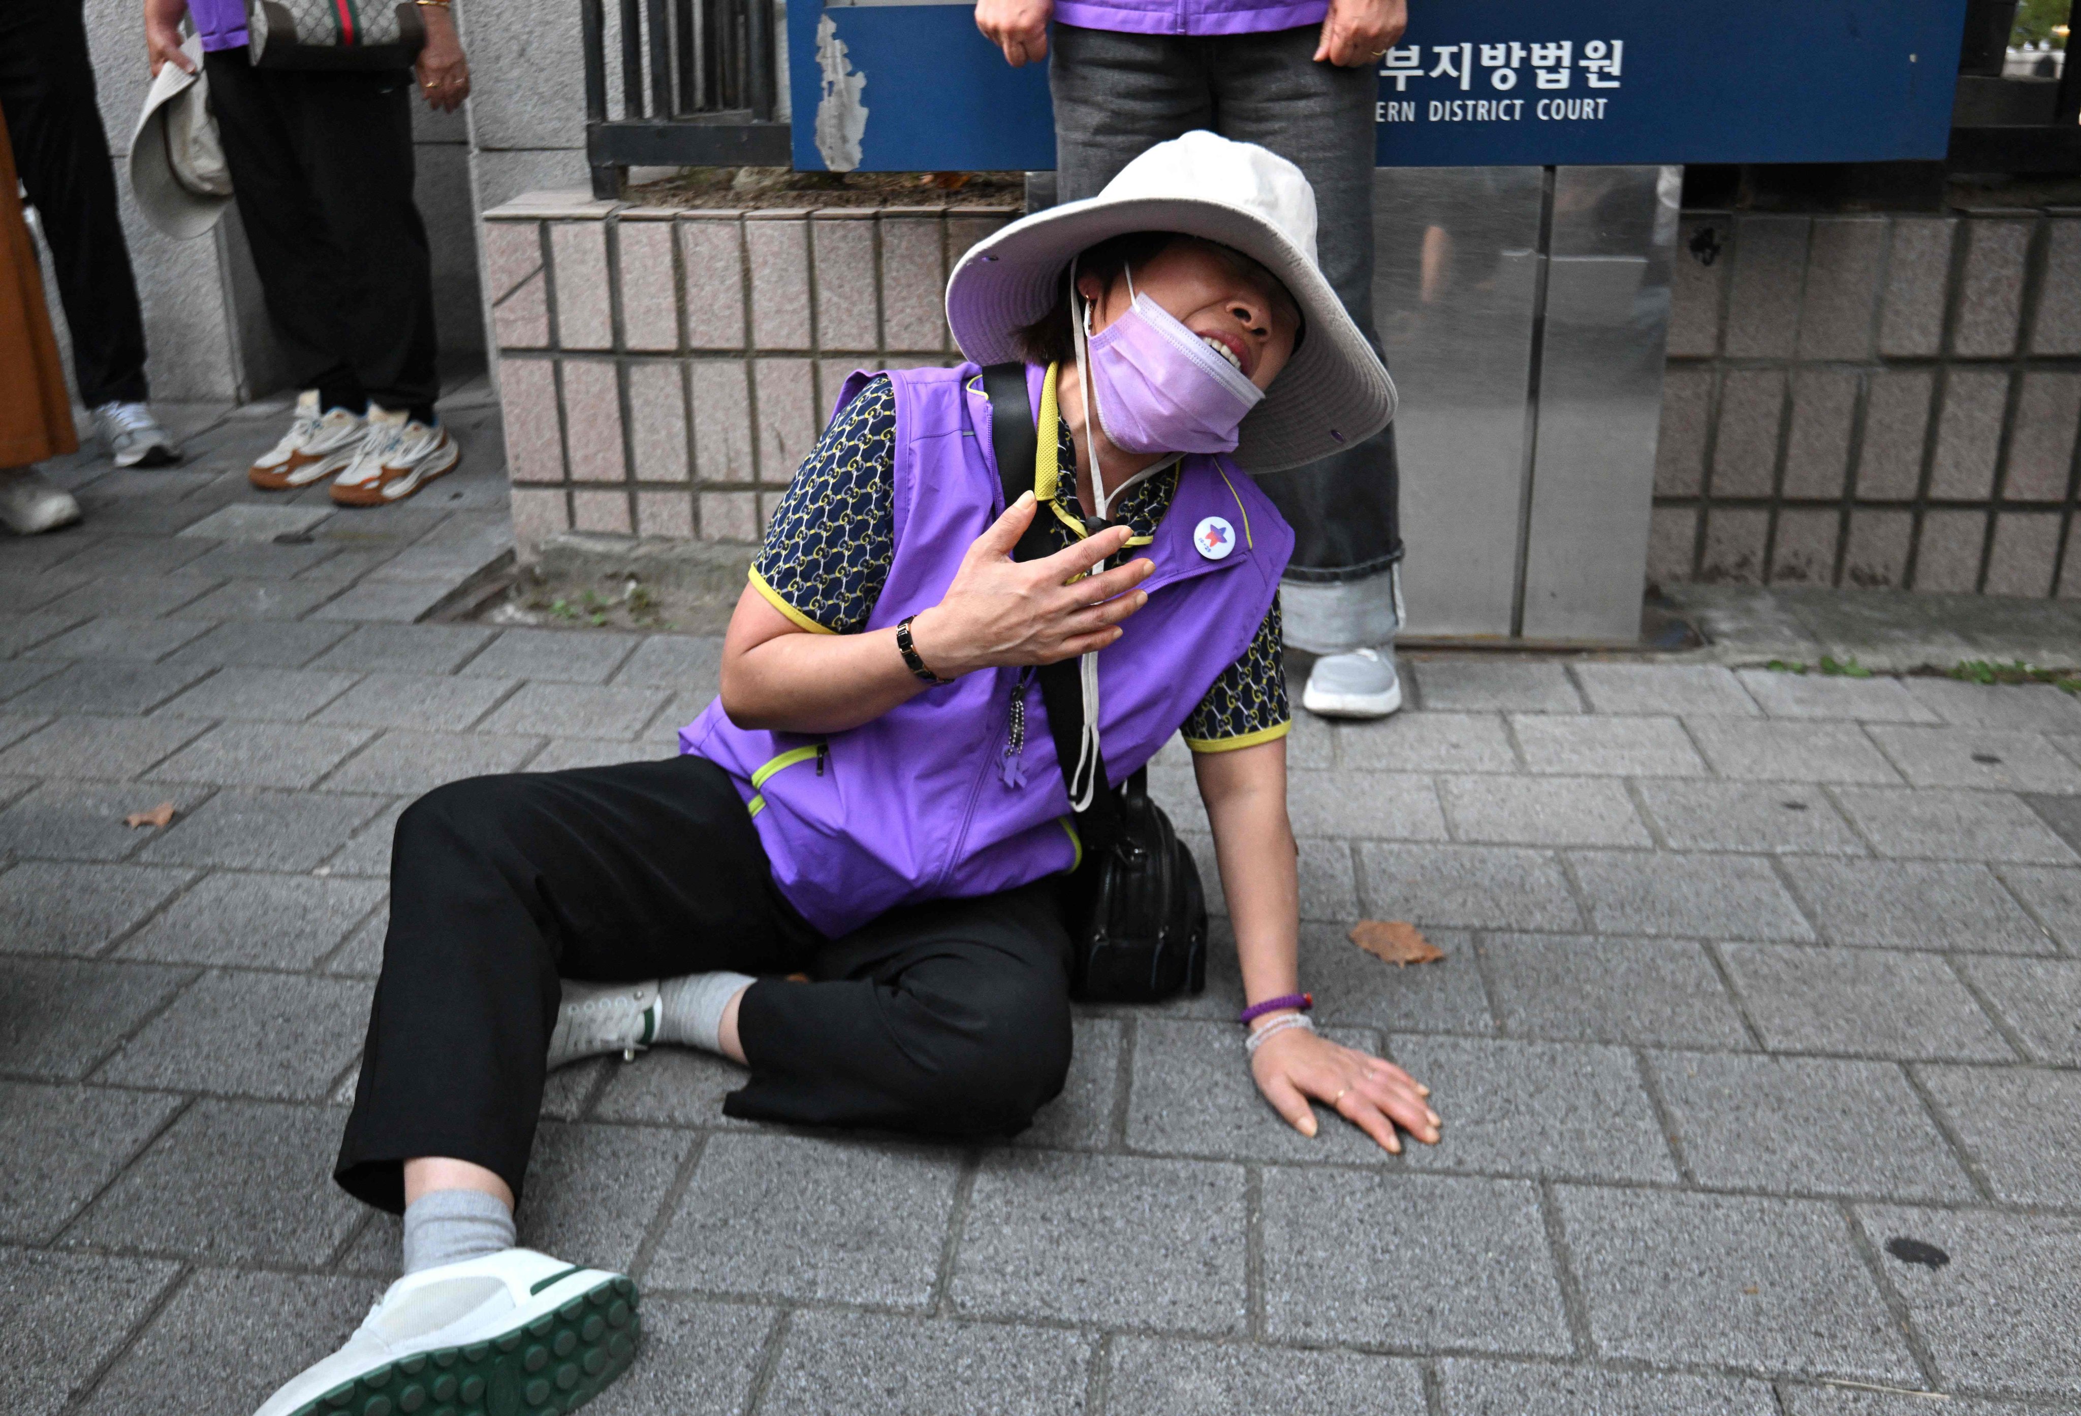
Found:
[[[959, 1152], [714, 1135], [651, 1258], [668, 1289], [924, 1308]], [[764, 1239], [745, 1243], [747, 1233]]]

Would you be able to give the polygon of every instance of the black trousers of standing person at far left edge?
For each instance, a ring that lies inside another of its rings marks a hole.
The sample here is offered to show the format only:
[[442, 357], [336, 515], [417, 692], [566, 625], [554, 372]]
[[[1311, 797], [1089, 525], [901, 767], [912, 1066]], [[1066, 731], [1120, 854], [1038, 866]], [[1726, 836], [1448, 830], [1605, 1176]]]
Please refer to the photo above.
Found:
[[[94, 100], [83, 0], [0, 0], [0, 110], [50, 243], [87, 408], [142, 403], [144, 316]], [[12, 200], [15, 193], [4, 193]]]

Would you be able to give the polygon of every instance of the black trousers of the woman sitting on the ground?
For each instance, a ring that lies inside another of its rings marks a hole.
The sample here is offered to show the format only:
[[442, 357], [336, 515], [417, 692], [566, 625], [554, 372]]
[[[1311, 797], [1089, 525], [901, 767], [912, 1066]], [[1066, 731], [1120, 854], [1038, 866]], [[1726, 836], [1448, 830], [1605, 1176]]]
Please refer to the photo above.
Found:
[[728, 776], [697, 757], [452, 782], [397, 817], [333, 1175], [402, 1210], [402, 1162], [447, 1156], [518, 1196], [560, 977], [760, 975], [737, 1017], [751, 1075], [724, 1115], [1007, 1135], [1070, 1071], [1068, 956], [1047, 884], [824, 940], [774, 888]]

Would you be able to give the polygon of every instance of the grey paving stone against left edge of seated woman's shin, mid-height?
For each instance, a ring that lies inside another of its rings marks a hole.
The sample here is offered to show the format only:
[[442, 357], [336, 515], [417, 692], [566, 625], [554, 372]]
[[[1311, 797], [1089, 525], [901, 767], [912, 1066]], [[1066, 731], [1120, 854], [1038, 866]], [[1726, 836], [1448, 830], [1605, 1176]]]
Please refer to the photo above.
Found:
[[360, 1052], [372, 992], [360, 979], [212, 971], [94, 1079], [314, 1102]]

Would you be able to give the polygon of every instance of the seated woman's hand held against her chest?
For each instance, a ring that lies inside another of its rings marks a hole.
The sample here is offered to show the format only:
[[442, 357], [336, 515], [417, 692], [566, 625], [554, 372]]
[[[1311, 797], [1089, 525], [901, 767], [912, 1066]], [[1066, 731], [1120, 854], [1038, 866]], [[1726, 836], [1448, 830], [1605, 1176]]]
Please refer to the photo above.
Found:
[[1134, 588], [1155, 570], [1147, 557], [1076, 580], [1126, 545], [1126, 526], [1038, 561], [1013, 561], [1036, 505], [1032, 493], [1013, 501], [968, 547], [947, 597], [911, 622], [918, 657], [941, 678], [1105, 649], [1120, 638], [1120, 622], [1149, 599]]

